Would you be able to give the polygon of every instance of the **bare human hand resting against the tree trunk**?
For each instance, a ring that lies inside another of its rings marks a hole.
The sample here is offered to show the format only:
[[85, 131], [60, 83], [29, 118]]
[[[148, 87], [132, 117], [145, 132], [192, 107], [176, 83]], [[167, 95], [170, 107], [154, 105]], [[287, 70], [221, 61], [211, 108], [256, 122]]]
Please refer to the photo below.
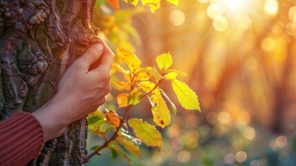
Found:
[[43, 126], [46, 140], [61, 135], [68, 124], [106, 102], [113, 59], [112, 51], [101, 40], [67, 69], [59, 80], [57, 93], [33, 113]]

